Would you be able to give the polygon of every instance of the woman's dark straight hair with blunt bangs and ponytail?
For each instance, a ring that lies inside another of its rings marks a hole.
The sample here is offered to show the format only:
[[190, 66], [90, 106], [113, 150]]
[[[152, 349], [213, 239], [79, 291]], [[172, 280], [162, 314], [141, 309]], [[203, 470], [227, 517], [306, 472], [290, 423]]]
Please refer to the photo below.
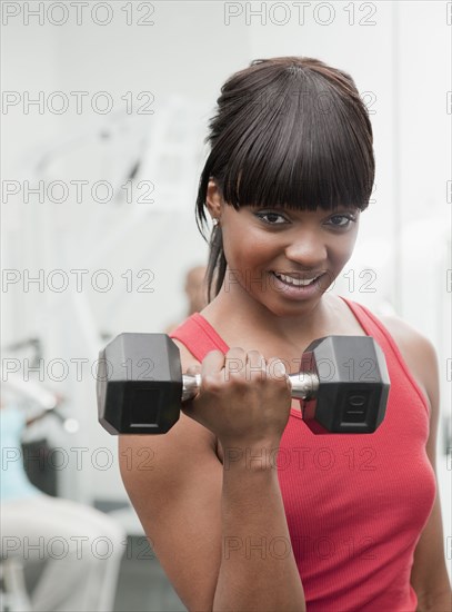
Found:
[[[227, 80], [217, 105], [197, 197], [204, 238], [210, 179], [235, 209], [366, 208], [375, 166], [372, 127], [346, 72], [312, 58], [258, 59]], [[225, 268], [217, 226], [210, 238], [209, 299], [213, 282], [214, 295], [220, 292]]]

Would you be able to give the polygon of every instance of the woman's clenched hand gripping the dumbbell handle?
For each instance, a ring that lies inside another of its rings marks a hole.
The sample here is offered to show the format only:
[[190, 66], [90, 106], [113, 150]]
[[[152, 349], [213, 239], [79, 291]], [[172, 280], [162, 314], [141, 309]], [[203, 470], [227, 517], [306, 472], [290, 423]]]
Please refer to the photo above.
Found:
[[291, 387], [284, 364], [258, 351], [212, 351], [201, 366], [199, 394], [184, 414], [210, 430], [222, 446], [278, 445], [289, 419]]

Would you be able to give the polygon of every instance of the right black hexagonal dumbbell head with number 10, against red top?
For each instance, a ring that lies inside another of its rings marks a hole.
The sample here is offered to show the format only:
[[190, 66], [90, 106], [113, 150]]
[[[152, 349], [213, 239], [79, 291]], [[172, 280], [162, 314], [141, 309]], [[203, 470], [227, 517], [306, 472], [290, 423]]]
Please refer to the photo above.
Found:
[[390, 379], [384, 355], [370, 336], [314, 340], [302, 369], [319, 377], [317, 397], [302, 402], [314, 433], [372, 433], [384, 418]]

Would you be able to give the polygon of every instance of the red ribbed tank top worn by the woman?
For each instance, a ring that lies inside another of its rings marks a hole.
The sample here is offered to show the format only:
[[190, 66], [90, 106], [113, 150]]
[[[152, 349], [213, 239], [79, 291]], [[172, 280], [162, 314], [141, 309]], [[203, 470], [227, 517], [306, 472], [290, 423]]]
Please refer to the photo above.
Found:
[[[393, 338], [342, 298], [381, 346], [391, 379], [373, 434], [314, 435], [291, 409], [278, 456], [280, 488], [308, 612], [414, 612], [413, 553], [435, 497], [425, 452], [429, 406]], [[228, 346], [199, 314], [171, 337], [200, 362]], [[277, 539], [275, 539], [277, 540]], [[281, 541], [269, 554], [284, 553]]]

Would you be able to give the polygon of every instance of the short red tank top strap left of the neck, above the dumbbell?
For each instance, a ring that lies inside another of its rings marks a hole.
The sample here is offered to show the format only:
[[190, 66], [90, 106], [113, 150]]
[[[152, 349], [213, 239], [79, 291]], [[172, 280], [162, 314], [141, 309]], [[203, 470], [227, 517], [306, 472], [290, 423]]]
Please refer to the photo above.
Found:
[[211, 351], [229, 351], [229, 346], [199, 313], [194, 313], [179, 325], [170, 334], [170, 338], [181, 342], [199, 362], [202, 362]]

